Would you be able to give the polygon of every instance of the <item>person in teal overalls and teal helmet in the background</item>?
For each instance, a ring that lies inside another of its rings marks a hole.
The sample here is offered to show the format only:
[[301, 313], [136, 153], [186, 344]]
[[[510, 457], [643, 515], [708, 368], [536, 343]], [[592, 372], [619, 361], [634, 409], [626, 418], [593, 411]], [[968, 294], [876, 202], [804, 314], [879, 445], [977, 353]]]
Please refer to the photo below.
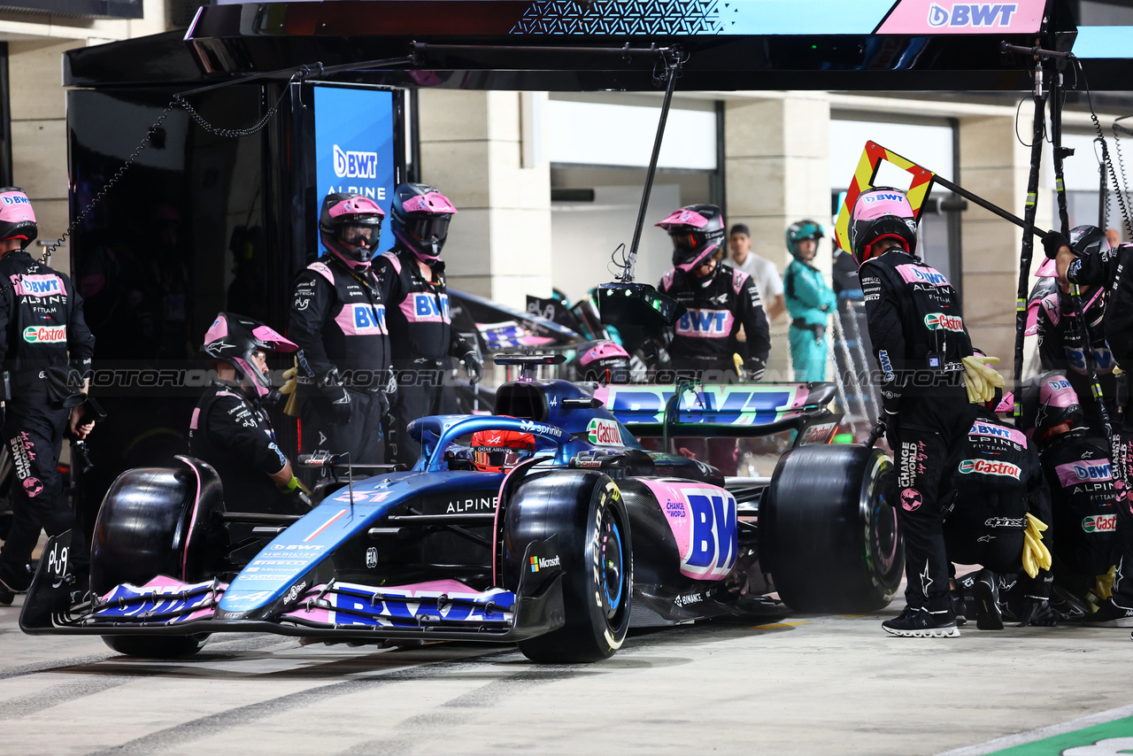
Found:
[[811, 265], [823, 227], [811, 220], [786, 230], [786, 248], [794, 260], [783, 277], [786, 309], [791, 313], [791, 363], [795, 381], [826, 380], [826, 324], [838, 298], [823, 273]]

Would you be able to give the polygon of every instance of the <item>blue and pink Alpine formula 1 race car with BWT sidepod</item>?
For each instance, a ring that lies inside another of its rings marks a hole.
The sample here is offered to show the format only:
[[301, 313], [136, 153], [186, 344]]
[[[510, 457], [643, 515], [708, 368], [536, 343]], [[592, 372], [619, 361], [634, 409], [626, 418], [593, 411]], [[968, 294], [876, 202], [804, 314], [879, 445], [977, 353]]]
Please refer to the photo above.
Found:
[[[782, 615], [773, 589], [794, 610], [877, 610], [903, 562], [881, 495], [891, 465], [878, 450], [827, 444], [841, 417], [826, 409], [832, 392], [506, 383], [497, 416], [415, 421], [412, 470], [353, 479], [358, 467], [307, 460], [337, 483], [301, 517], [238, 511], [196, 459], [128, 470], [99, 513], [91, 592], [68, 564], [70, 534], [53, 537], [20, 627], [101, 635], [151, 657], [190, 655], [212, 632], [263, 631], [513, 642], [536, 661], [585, 662], [612, 655], [631, 627]], [[630, 427], [786, 433], [793, 447], [770, 478], [725, 481], [646, 451]], [[534, 452], [485, 472], [468, 442], [484, 432], [526, 434]], [[236, 540], [239, 528], [250, 534]]]

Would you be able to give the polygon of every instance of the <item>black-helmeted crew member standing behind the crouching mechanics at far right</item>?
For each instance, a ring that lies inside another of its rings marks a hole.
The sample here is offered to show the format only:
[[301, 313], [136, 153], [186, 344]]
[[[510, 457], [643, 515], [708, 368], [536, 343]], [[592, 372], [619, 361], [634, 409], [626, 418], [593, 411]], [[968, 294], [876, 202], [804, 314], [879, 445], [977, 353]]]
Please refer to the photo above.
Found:
[[[1077, 255], [1100, 256], [1109, 252], [1109, 243], [1106, 241], [1101, 229], [1096, 226], [1074, 228], [1070, 232], [1070, 243]], [[1041, 266], [1039, 272], [1043, 272]], [[1077, 312], [1074, 298], [1070, 294], [1070, 283], [1065, 280], [1057, 281], [1057, 288], [1042, 298], [1036, 321], [1039, 358], [1045, 371], [1058, 371], [1066, 375], [1075, 393], [1087, 399], [1082, 406], [1083, 423], [1096, 438], [1104, 439], [1108, 434], [1101, 421], [1098, 402], [1092, 398], [1090, 368], [1092, 367], [1098, 377], [1110, 422], [1115, 422], [1117, 419], [1117, 377], [1114, 375], [1116, 364], [1102, 330], [1108, 292], [1102, 286], [1081, 286], [1077, 298], [1084, 309], [1084, 316]], [[1089, 332], [1088, 348], [1082, 343], [1083, 328]]]

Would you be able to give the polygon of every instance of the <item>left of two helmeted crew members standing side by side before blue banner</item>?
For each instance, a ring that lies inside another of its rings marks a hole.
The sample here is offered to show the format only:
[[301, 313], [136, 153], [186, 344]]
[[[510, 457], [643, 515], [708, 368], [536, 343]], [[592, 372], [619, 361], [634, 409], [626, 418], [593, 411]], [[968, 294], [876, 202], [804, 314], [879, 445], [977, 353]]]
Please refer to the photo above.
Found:
[[318, 216], [326, 254], [299, 272], [291, 300], [303, 449], [349, 453], [353, 464], [385, 456], [390, 337], [370, 269], [384, 215], [359, 194], [326, 195]]

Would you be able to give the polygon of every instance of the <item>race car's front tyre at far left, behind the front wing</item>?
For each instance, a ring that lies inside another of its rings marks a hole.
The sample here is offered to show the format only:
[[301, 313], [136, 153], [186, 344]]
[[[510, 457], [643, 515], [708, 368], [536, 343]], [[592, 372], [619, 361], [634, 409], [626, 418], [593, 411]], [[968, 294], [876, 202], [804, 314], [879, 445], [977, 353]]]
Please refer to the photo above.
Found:
[[[207, 465], [179, 458], [185, 467], [122, 473], [99, 509], [91, 544], [91, 589], [142, 586], [159, 575], [186, 583], [214, 574], [227, 545], [220, 525], [223, 494]], [[112, 649], [144, 659], [184, 659], [204, 647], [208, 634], [103, 636]]]

